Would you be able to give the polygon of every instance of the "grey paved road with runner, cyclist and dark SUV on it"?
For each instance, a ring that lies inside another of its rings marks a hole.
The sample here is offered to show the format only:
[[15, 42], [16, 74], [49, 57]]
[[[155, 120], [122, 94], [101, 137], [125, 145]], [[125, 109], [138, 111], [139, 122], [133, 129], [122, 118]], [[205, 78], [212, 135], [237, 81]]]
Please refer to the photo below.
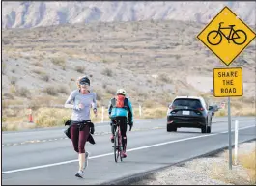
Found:
[[[254, 117], [232, 120], [240, 120], [240, 143], [256, 138]], [[128, 158], [122, 163], [114, 162], [109, 124], [96, 124], [97, 144], [86, 145], [91, 155], [84, 179], [74, 176], [78, 169], [77, 154], [71, 140], [65, 138], [64, 127], [3, 132], [2, 184], [100, 184], [228, 146], [227, 118], [213, 118], [211, 134], [194, 128], [168, 133], [165, 123], [165, 119], [135, 120], [133, 130], [128, 131]]]

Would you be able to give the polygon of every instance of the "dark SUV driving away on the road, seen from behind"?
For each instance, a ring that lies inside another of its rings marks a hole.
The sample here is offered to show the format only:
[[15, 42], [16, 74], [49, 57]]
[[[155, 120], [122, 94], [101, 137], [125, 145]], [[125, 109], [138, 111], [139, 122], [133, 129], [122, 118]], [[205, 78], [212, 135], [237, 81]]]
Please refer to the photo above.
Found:
[[211, 106], [208, 108], [203, 97], [176, 97], [167, 111], [167, 131], [177, 131], [177, 128], [181, 127], [192, 127], [201, 128], [202, 133], [211, 133], [212, 108]]

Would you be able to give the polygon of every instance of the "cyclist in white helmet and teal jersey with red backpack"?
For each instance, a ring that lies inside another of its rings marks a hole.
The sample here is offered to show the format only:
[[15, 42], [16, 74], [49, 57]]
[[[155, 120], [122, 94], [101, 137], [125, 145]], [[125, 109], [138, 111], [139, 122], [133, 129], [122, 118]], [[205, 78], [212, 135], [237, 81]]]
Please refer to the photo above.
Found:
[[133, 112], [132, 106], [128, 98], [126, 97], [126, 91], [124, 89], [117, 90], [116, 96], [113, 97], [108, 106], [108, 114], [111, 119], [111, 142], [114, 143], [114, 133], [116, 131], [116, 126], [113, 125], [115, 123], [115, 119], [121, 120], [120, 122], [120, 130], [122, 136], [122, 146], [123, 151], [121, 156], [123, 158], [127, 157], [126, 149], [127, 149], [127, 124], [129, 124], [130, 128], [133, 126]]

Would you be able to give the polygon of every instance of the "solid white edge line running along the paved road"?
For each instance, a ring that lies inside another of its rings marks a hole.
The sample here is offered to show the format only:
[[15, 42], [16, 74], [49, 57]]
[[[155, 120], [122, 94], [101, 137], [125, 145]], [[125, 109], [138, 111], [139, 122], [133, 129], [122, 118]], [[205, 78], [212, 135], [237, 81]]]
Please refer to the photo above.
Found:
[[[255, 127], [255, 125], [250, 125], [250, 126], [242, 127], [242, 128], [240, 128], [240, 130], [247, 129], [247, 128], [252, 128], [252, 127]], [[234, 132], [234, 130], [231, 130], [231, 131]], [[195, 136], [195, 137], [190, 137], [190, 138], [184, 138], [184, 139], [180, 139], [180, 140], [164, 142], [164, 143], [155, 144], [155, 145], [151, 145], [151, 146], [141, 146], [141, 147], [136, 147], [136, 148], [128, 149], [127, 151], [135, 151], [135, 150], [140, 150], [140, 149], [145, 149], [145, 148], [150, 148], [150, 147], [155, 147], [155, 146], [164, 146], [164, 145], [167, 145], [167, 144], [174, 144], [174, 143], [177, 143], [177, 142], [183, 142], [183, 141], [193, 140], [193, 139], [197, 139], [197, 138], [215, 136], [215, 135], [224, 134], [224, 133], [228, 133], [228, 131], [214, 133], [214, 134], [206, 134], [206, 135], [201, 135], [201, 136]], [[89, 159], [96, 159], [96, 158], [105, 157], [105, 156], [109, 156], [109, 155], [113, 155], [113, 152], [112, 153], [105, 153], [105, 154], [101, 154], [101, 155], [97, 155], [97, 156], [93, 156], [93, 157], [89, 157]], [[70, 163], [77, 162], [77, 161], [78, 160], [75, 159], [75, 160], [64, 161], [64, 162], [59, 162], [59, 163], [46, 164], [46, 165], [42, 165], [42, 166], [35, 166], [35, 167], [30, 167], [30, 168], [11, 170], [11, 171], [7, 171], [7, 172], [2, 172], [2, 174], [24, 172], [24, 171], [48, 168], [48, 167], [59, 166], [59, 165], [64, 165], [64, 164], [70, 164]]]

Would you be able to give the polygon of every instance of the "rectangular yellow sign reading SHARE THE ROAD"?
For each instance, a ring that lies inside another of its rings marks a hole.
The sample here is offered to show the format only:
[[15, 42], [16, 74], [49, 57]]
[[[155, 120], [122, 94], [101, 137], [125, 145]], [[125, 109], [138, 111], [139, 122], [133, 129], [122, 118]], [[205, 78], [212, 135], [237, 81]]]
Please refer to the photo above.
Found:
[[242, 68], [214, 68], [213, 93], [215, 97], [242, 96]]

